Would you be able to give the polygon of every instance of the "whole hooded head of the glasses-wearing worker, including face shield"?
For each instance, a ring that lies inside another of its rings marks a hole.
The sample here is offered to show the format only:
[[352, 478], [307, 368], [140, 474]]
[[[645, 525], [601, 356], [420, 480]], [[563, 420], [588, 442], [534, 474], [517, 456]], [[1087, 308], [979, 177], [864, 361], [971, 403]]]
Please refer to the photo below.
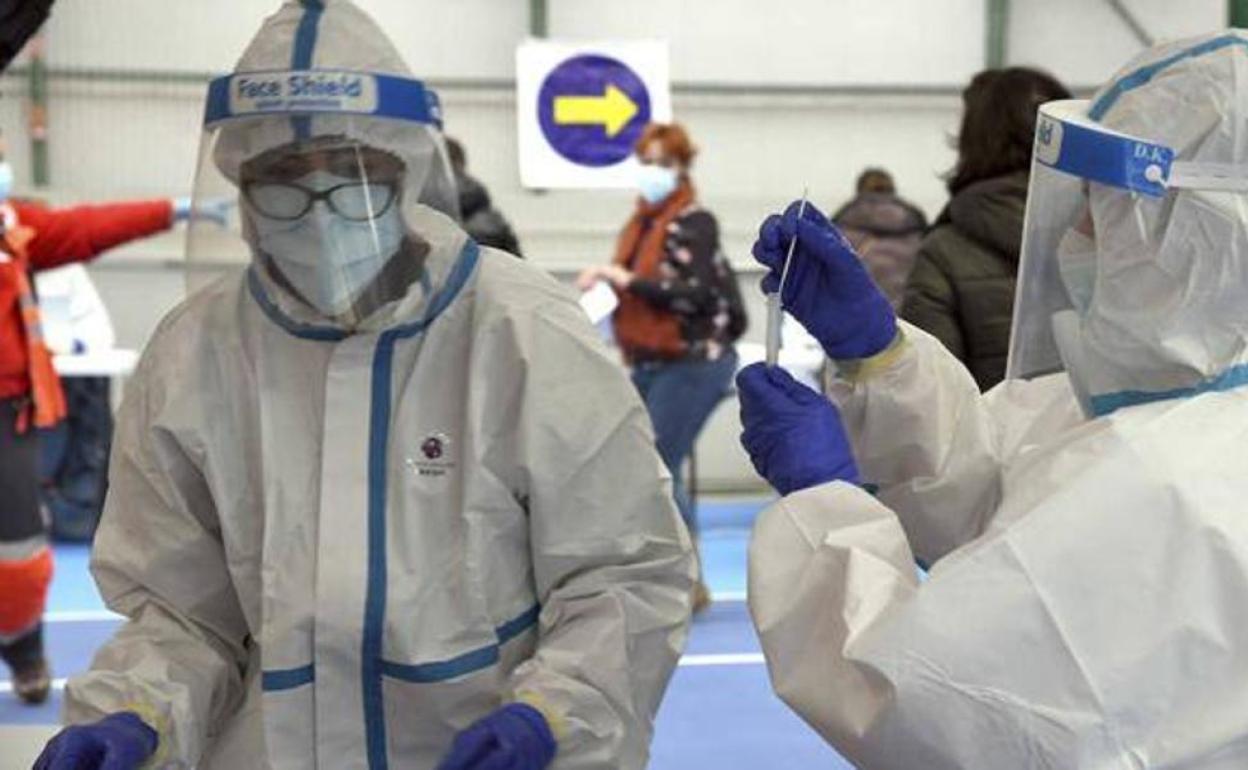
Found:
[[288, 0], [210, 86], [195, 197], [238, 200], [238, 227], [192, 223], [191, 288], [207, 263], [250, 262], [283, 326], [419, 321], [469, 248], [441, 125], [368, 15]]

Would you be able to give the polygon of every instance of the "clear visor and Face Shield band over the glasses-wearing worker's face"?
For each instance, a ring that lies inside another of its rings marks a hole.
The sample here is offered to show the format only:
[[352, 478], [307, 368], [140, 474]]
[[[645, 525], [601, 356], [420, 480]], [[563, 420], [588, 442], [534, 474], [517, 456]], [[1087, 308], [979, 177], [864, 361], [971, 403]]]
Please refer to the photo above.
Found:
[[[215, 80], [192, 197], [187, 285], [237, 265], [293, 318], [354, 327], [424, 278], [458, 196], [437, 97], [417, 80], [342, 71]], [[444, 216], [442, 216], [444, 215]]]

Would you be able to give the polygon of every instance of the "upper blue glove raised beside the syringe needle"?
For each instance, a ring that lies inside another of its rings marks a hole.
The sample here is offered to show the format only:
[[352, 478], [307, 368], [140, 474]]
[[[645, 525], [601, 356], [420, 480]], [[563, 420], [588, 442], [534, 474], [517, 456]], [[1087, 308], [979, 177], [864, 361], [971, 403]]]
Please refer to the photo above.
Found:
[[796, 232], [797, 247], [780, 303], [829, 357], [870, 358], [897, 334], [892, 306], [841, 231], [809, 203], [799, 222], [797, 207], [791, 203], [784, 216], [771, 215], [759, 228], [754, 258], [771, 268], [763, 278], [763, 291], [773, 293], [779, 288], [789, 242]]

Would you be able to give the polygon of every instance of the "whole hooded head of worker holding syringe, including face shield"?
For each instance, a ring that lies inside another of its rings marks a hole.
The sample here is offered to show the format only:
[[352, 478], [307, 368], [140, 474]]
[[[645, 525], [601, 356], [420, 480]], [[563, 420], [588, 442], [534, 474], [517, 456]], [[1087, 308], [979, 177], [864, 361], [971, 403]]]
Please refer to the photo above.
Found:
[[[1246, 111], [1239, 31], [1158, 46], [1090, 102], [1042, 107], [1007, 377], [1065, 368], [1093, 416], [1248, 382]], [[1057, 171], [1076, 175], [1060, 195], [1042, 186]], [[1086, 307], [1055, 291], [1076, 226], [1096, 243]]]

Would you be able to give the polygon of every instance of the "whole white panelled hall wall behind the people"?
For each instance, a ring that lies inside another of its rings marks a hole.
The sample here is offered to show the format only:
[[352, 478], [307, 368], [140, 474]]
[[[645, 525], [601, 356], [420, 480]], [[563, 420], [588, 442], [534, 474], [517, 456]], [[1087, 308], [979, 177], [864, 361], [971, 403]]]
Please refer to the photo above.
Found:
[[[520, 188], [515, 157], [514, 46], [524, 0], [358, 0], [394, 37], [413, 71], [436, 81], [448, 132], [513, 220], [530, 258], [567, 276], [607, 260], [626, 216], [622, 192]], [[180, 195], [190, 190], [205, 84], [227, 71], [273, 0], [59, 0], [47, 27], [50, 64], [69, 70], [181, 72], [183, 81], [52, 81], [54, 201]], [[671, 44], [676, 117], [703, 152], [696, 181], [749, 270], [759, 221], [809, 187], [831, 208], [867, 165], [894, 171], [901, 191], [935, 216], [958, 89], [982, 66], [982, 0], [549, 0], [550, 32]], [[1157, 37], [1222, 24], [1224, 0], [1134, 0]], [[1092, 87], [1139, 50], [1101, 0], [1013, 0], [1008, 55]], [[29, 180], [25, 84], [0, 79], [0, 127], [19, 180]], [[29, 190], [29, 188], [27, 188]], [[181, 233], [139, 243], [92, 268], [125, 344], [141, 346], [175, 303]], [[751, 285], [756, 276], [746, 273]], [[749, 292], [753, 296], [753, 292]], [[759, 339], [761, 308], [749, 337]], [[713, 483], [753, 483], [736, 449], [735, 406], [703, 442]]]

